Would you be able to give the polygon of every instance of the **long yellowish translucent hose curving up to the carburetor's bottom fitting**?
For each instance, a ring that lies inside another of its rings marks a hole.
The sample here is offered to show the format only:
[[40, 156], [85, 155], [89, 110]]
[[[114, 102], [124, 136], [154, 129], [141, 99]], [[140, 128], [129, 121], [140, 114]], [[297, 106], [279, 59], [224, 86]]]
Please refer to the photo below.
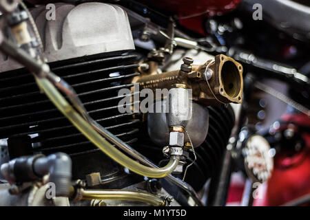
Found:
[[96, 145], [103, 153], [110, 156], [118, 164], [127, 167], [132, 170], [132, 172], [139, 175], [152, 177], [152, 178], [162, 178], [170, 173], [176, 168], [179, 162], [179, 157], [173, 157], [169, 160], [169, 163], [163, 168], [151, 168], [139, 164], [134, 159], [131, 159], [116, 147], [114, 147], [110, 142], [107, 142], [97, 131], [95, 131], [92, 126], [77, 113], [74, 108], [69, 104], [65, 98], [59, 93], [59, 91], [50, 83], [47, 78], [37, 78], [37, 83], [39, 87], [45, 92], [46, 96], [52, 100], [56, 107], [61, 111], [69, 120], [76, 126], [88, 140], [90, 140], [94, 145]]

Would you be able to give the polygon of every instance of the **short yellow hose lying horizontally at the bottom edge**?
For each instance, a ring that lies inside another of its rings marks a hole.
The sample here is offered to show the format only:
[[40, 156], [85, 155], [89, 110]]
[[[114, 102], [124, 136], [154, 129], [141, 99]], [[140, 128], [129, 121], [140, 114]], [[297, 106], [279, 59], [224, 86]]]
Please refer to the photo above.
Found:
[[141, 201], [152, 206], [165, 206], [165, 200], [147, 192], [132, 192], [123, 190], [84, 190], [81, 189], [82, 199], [116, 199]]

